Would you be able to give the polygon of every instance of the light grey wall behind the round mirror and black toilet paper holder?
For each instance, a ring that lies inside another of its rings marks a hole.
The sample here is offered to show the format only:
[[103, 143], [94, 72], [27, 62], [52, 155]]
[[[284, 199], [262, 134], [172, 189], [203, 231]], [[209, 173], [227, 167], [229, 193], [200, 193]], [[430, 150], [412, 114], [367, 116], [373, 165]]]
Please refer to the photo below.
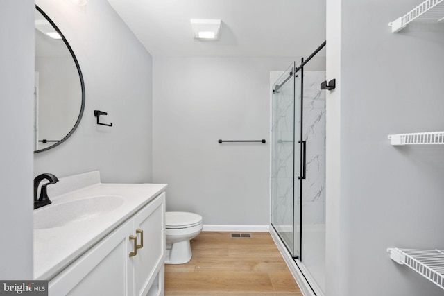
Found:
[[[103, 182], [151, 182], [151, 55], [106, 0], [37, 0], [71, 45], [85, 79], [86, 107], [76, 132], [35, 155], [34, 174], [100, 170]], [[96, 125], [94, 110], [112, 128]]]

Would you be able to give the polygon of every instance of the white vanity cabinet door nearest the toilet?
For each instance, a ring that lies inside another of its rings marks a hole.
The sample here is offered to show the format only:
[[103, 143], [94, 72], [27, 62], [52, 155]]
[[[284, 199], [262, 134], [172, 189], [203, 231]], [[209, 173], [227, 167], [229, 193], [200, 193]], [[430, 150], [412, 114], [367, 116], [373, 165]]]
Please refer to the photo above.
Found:
[[[141, 229], [144, 246], [131, 258], [134, 266], [134, 295], [147, 295], [156, 279], [163, 283], [165, 253], [165, 193], [159, 195], [134, 217], [134, 232]], [[137, 242], [141, 234], [137, 234]], [[156, 277], [157, 276], [157, 277]], [[158, 285], [158, 284], [157, 284]], [[159, 290], [163, 290], [159, 287]], [[157, 293], [153, 293], [154, 295]]]

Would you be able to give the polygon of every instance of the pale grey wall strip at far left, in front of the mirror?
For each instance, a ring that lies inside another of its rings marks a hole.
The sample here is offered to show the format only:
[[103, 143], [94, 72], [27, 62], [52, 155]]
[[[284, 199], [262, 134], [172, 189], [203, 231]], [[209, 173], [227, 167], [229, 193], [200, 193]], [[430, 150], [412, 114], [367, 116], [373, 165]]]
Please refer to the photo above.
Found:
[[34, 3], [0, 7], [0, 279], [33, 279]]

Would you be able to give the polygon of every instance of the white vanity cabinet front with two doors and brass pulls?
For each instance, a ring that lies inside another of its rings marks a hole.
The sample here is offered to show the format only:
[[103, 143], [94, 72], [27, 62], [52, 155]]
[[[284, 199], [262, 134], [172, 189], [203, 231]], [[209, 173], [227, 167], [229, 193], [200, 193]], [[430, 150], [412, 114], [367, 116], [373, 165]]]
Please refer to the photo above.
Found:
[[51, 279], [49, 295], [164, 295], [164, 225], [161, 193]]

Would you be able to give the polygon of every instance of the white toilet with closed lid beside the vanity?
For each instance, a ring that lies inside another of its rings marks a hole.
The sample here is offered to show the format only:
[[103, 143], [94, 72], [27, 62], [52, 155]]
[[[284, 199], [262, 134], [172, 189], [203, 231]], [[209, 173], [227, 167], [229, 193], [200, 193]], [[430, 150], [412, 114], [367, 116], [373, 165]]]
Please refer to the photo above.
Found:
[[183, 264], [191, 260], [189, 241], [202, 232], [202, 216], [185, 211], [167, 211], [165, 218], [167, 256], [165, 264]]

